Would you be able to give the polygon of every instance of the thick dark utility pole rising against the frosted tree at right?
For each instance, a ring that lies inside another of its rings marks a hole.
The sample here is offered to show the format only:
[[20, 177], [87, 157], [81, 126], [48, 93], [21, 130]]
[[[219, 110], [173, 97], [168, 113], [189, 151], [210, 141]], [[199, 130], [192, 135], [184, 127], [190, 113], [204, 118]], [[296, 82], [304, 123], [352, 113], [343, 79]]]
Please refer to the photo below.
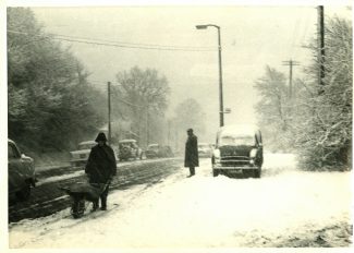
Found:
[[325, 10], [324, 5], [317, 7], [317, 43], [318, 43], [318, 84], [325, 85]]

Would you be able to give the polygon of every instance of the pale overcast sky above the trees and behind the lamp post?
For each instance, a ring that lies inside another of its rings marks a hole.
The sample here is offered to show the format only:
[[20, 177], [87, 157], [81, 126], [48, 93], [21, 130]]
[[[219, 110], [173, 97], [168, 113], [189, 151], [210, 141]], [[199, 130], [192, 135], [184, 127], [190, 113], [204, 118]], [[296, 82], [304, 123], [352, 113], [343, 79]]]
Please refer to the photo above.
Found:
[[[286, 74], [282, 61], [301, 62], [294, 77], [309, 64], [302, 48], [316, 36], [317, 10], [313, 7], [77, 7], [33, 8], [47, 32], [73, 37], [129, 44], [188, 46], [212, 51], [154, 50], [95, 46], [77, 43], [72, 52], [91, 73], [89, 80], [105, 87], [119, 71], [134, 65], [152, 68], [171, 86], [169, 116], [184, 98], [192, 97], [207, 113], [209, 131], [219, 124], [217, 29], [196, 29], [197, 24], [221, 27], [225, 123], [256, 123], [254, 82], [266, 64]], [[326, 7], [325, 14], [351, 17], [345, 7]]]

